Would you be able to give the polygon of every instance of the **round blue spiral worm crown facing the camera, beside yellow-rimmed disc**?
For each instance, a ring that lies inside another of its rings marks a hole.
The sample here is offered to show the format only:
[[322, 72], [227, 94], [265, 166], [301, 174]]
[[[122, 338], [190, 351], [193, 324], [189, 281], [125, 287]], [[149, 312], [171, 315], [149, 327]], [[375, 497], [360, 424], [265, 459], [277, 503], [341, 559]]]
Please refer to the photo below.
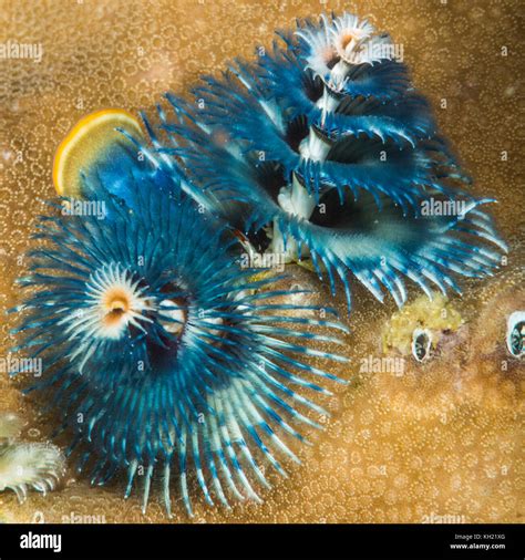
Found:
[[86, 177], [107, 219], [43, 219], [20, 280], [32, 294], [19, 350], [43, 357], [32, 388], [73, 434], [92, 484], [125, 470], [127, 496], [142, 474], [145, 509], [158, 471], [168, 512], [172, 471], [188, 512], [189, 478], [208, 504], [260, 500], [262, 466], [285, 475], [278, 454], [298, 462], [287, 439], [305, 440], [300, 426], [326, 414], [303, 393], [338, 381], [309, 360], [346, 361], [309, 342], [337, 344], [315, 331], [346, 328], [279, 302], [270, 279], [231, 258], [235, 237], [159, 177], [135, 162], [126, 201]]

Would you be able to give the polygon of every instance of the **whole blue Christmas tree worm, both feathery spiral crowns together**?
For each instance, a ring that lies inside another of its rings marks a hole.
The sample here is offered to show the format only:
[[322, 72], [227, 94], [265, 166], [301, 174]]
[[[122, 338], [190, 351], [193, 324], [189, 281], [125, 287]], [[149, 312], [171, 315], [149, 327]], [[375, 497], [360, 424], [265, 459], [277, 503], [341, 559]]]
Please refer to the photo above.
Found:
[[[319, 427], [299, 408], [326, 413], [302, 391], [337, 380], [307, 359], [343, 361], [313, 344], [346, 328], [240, 270], [236, 235], [249, 251], [311, 259], [332, 292], [338, 276], [349, 309], [351, 276], [402, 305], [404, 278], [431, 297], [497, 268], [490, 199], [469, 193], [392, 45], [348, 14], [298, 22], [255, 62], [205, 79], [195, 103], [168, 94], [158, 122], [145, 117], [151, 146], [123, 131], [147, 162], [119, 148], [84, 180], [107, 220], [44, 220], [51, 247], [21, 280], [37, 291], [18, 309], [17, 350], [47, 356], [35, 388], [51, 390], [93, 484], [126, 470], [128, 495], [144, 468], [145, 509], [159, 471], [168, 514], [172, 470], [188, 512], [188, 477], [208, 504], [260, 500], [259, 460], [285, 474], [275, 452], [298, 459], [282, 434]], [[465, 211], [423, 216], [430, 198]]]

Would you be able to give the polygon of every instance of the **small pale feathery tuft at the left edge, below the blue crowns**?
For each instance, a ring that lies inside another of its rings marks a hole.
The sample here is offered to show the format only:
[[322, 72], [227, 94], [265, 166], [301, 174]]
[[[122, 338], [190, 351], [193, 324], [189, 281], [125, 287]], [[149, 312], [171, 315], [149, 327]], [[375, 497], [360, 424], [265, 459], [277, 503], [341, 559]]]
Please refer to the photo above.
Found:
[[54, 490], [65, 473], [61, 450], [51, 444], [22, 443], [0, 446], [0, 491], [10, 489], [20, 502], [28, 489], [43, 495]]

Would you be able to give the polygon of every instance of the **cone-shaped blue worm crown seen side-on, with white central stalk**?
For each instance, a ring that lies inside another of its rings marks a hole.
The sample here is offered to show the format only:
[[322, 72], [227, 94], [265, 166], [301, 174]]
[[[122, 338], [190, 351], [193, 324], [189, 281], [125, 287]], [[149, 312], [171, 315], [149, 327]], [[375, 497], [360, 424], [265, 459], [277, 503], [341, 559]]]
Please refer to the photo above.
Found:
[[506, 249], [491, 199], [467, 190], [392, 40], [349, 14], [279, 34], [205, 77], [194, 102], [167, 95], [168, 141], [153, 139], [187, 190], [257, 250], [311, 258], [332, 291], [339, 276], [349, 308], [351, 277], [401, 305], [406, 279], [430, 295], [492, 274]]

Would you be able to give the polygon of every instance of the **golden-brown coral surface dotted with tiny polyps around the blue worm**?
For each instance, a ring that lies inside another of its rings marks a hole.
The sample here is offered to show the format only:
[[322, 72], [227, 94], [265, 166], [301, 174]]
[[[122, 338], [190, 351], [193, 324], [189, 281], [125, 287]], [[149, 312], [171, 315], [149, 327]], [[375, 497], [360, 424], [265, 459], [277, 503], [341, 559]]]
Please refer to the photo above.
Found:
[[[457, 516], [521, 522], [524, 381], [516, 361], [502, 371], [505, 318], [525, 307], [519, 0], [1, 1], [0, 42], [40, 42], [43, 59], [0, 60], [0, 308], [18, 302], [12, 281], [43, 209], [39, 198], [53, 195], [54, 151], [82, 115], [136, 111], [166, 90], [182, 93], [199, 74], [269, 44], [275, 28], [323, 9], [370, 15], [403, 44], [415, 85], [432, 101], [475, 191], [500, 200], [494, 215], [511, 246], [508, 263], [490, 281], [462, 282], [465, 294], [453, 304], [467, 323], [467, 340], [424, 366], [410, 362], [400, 377], [359, 373], [363, 356], [381, 355], [381, 331], [394, 305], [372, 302], [357, 288], [347, 339], [352, 362], [339, 370], [352, 383], [328, 403], [333, 414], [326, 432], [313, 436], [316, 446], [299, 449], [302, 468], [292, 468], [288, 480], [274, 478], [262, 506], [226, 512], [206, 507], [194, 491], [195, 520], [422, 522]], [[2, 355], [13, 324], [11, 318], [0, 322]], [[0, 378], [0, 411], [22, 415], [27, 439], [45, 439], [53, 421], [39, 417], [19, 385]], [[72, 515], [166, 521], [155, 490], [144, 517], [136, 495], [124, 502], [122, 494], [122, 483], [90, 488], [70, 473], [60, 491], [47, 498], [32, 492], [22, 506], [12, 492], [0, 494], [0, 519], [30, 521], [41, 512], [59, 522]], [[186, 520], [179, 501], [174, 514], [174, 522]]]

